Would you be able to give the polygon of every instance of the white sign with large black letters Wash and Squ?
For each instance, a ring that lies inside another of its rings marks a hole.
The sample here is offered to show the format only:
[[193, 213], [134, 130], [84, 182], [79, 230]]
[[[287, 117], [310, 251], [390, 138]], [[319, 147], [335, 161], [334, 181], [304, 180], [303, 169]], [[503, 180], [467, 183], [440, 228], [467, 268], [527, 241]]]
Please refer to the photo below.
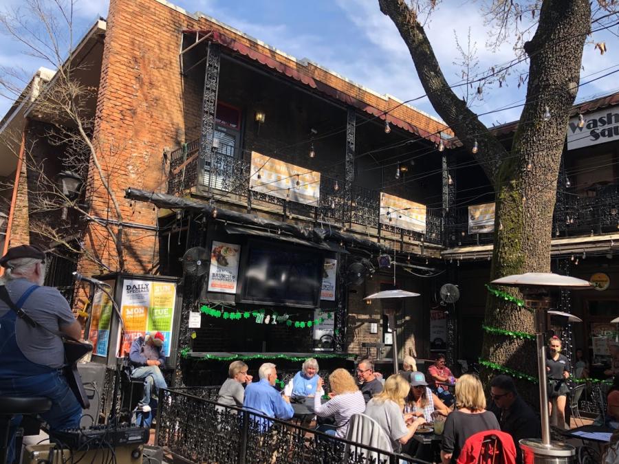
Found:
[[619, 107], [601, 109], [585, 115], [585, 126], [578, 127], [578, 116], [567, 124], [567, 149], [619, 140]]

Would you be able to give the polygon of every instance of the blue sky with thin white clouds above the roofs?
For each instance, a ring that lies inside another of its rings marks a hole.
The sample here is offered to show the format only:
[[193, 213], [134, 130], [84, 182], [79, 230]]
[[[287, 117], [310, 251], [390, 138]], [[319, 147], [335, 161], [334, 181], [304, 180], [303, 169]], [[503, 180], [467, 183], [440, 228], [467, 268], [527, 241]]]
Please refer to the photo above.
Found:
[[[204, 12], [287, 54], [309, 58], [378, 93], [389, 93], [400, 100], [424, 94], [409, 52], [393, 23], [380, 12], [378, 1], [176, 0], [172, 3], [189, 12]], [[0, 0], [0, 4], [3, 7], [17, 5], [19, 0]], [[78, 1], [77, 32], [85, 32], [99, 15], [107, 16], [107, 8], [107, 0]], [[439, 4], [426, 30], [451, 83], [461, 79], [461, 69], [453, 65], [460, 59], [454, 34], [466, 45], [469, 28], [471, 41], [477, 45], [480, 71], [514, 57], [509, 44], [495, 52], [486, 48], [488, 27], [484, 25], [478, 2], [447, 0]], [[595, 78], [603, 74], [602, 69], [613, 65], [616, 67], [608, 71], [619, 68], [619, 53], [613, 49], [616, 37], [613, 41], [607, 35], [598, 33], [593, 38], [594, 41], [606, 41], [609, 50], [604, 56], [594, 49], [593, 43], [585, 46], [583, 80]], [[0, 67], [15, 65], [28, 74], [34, 74], [41, 65], [49, 67], [47, 63], [24, 55], [23, 47], [0, 35]], [[596, 72], [599, 74], [594, 74]], [[577, 100], [617, 91], [617, 76], [619, 74], [613, 74], [581, 87]], [[525, 86], [518, 89], [513, 80], [508, 80], [501, 89], [484, 90], [484, 100], [476, 102], [474, 110], [485, 113], [519, 104], [523, 102], [524, 90]], [[0, 115], [6, 113], [10, 103], [8, 98], [0, 96]], [[426, 98], [413, 105], [436, 115]], [[486, 115], [482, 120], [488, 125], [509, 122], [519, 118], [520, 111], [520, 108], [500, 111]]]

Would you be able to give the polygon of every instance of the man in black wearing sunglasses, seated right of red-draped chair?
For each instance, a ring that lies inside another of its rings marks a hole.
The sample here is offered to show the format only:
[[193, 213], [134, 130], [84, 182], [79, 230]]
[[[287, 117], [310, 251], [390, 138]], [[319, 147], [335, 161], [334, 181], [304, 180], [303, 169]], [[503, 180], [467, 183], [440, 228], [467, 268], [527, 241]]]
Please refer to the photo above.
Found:
[[541, 438], [539, 417], [518, 395], [512, 377], [497, 375], [490, 381], [492, 402], [488, 410], [495, 413], [501, 430], [512, 436], [516, 444], [516, 462], [522, 463], [521, 439]]

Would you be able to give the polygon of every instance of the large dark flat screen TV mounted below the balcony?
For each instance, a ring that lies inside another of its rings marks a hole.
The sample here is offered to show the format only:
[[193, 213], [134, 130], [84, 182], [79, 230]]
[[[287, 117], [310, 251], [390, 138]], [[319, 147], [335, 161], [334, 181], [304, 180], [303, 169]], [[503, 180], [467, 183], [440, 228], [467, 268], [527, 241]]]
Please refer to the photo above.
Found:
[[302, 245], [250, 241], [241, 269], [240, 301], [318, 307], [324, 256]]

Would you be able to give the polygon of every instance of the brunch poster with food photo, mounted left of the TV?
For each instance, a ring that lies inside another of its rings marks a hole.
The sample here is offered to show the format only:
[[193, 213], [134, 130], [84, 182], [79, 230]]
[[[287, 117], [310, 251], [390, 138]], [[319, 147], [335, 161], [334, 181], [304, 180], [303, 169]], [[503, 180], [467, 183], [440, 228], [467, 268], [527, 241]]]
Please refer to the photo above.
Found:
[[237, 293], [239, 256], [241, 256], [241, 245], [213, 240], [213, 247], [210, 250], [208, 291], [217, 291], [221, 294]]

